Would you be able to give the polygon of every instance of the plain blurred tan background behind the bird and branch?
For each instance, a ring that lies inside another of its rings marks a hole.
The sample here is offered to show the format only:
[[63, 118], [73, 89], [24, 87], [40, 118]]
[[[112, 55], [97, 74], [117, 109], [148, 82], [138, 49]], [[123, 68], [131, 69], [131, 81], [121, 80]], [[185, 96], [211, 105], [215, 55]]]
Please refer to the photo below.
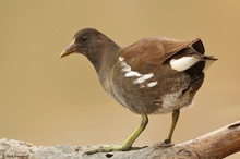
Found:
[[[183, 110], [173, 142], [204, 135], [240, 117], [240, 1], [1, 1], [0, 138], [35, 145], [121, 145], [140, 115], [101, 88], [79, 54], [60, 59], [76, 30], [95, 27], [120, 46], [141, 38], [201, 37], [219, 58], [195, 105]], [[166, 138], [171, 114], [151, 115], [135, 146]], [[237, 159], [240, 154], [228, 157]]]

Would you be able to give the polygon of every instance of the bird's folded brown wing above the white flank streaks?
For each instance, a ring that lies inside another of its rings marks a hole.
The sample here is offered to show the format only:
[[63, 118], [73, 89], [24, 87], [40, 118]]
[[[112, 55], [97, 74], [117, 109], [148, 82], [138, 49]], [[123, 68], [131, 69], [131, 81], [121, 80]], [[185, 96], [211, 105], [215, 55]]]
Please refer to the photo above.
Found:
[[204, 53], [200, 38], [183, 41], [159, 37], [143, 39], [123, 48], [121, 57], [133, 71], [145, 74], [189, 47], [193, 47], [201, 54]]

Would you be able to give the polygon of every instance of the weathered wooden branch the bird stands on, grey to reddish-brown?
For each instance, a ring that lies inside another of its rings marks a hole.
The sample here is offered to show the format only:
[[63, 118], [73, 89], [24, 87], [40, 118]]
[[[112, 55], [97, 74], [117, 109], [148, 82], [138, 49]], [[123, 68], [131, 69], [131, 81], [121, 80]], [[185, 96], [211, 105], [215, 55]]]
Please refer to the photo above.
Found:
[[195, 139], [175, 145], [172, 147], [160, 147], [155, 144], [149, 147], [119, 152], [99, 152], [91, 156], [83, 154], [97, 146], [35, 146], [25, 142], [13, 139], [0, 139], [1, 159], [220, 159], [240, 151], [240, 121], [221, 127]]

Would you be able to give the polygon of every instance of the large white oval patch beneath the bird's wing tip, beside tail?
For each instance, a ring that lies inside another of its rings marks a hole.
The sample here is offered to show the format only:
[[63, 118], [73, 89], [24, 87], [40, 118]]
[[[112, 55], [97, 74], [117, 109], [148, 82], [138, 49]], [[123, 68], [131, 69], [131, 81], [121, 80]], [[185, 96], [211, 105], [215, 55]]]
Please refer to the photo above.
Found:
[[171, 69], [176, 70], [176, 71], [184, 71], [188, 70], [189, 68], [191, 68], [193, 64], [195, 64], [196, 62], [199, 62], [200, 59], [195, 58], [195, 57], [183, 57], [180, 59], [172, 59], [170, 61], [170, 65]]

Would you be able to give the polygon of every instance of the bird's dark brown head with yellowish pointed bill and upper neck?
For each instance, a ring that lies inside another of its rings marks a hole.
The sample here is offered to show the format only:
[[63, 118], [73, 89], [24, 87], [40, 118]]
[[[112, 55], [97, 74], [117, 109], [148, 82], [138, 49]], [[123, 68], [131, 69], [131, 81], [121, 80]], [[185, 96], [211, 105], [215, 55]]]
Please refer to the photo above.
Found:
[[108, 58], [119, 49], [120, 47], [115, 41], [97, 29], [83, 28], [74, 35], [72, 42], [62, 51], [60, 58], [71, 53], [81, 53], [87, 57], [94, 66], [98, 69], [103, 62], [103, 57], [105, 60], [109, 60]]

